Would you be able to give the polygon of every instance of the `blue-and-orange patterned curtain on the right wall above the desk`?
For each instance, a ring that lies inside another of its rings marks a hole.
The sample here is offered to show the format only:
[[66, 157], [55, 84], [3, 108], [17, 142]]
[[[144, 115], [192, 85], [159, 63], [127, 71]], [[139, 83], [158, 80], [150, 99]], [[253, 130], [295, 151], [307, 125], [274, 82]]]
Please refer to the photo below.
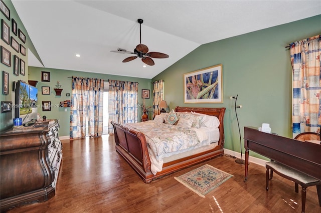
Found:
[[301, 132], [320, 132], [321, 35], [290, 44], [293, 72], [293, 138]]

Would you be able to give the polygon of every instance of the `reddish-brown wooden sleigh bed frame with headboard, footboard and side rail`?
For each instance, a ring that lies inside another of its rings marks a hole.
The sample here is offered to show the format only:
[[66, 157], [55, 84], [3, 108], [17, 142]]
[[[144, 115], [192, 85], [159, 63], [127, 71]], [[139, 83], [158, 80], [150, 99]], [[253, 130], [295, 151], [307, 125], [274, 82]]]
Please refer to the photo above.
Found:
[[159, 178], [177, 170], [195, 165], [202, 161], [224, 154], [224, 127], [223, 117], [225, 108], [204, 108], [204, 107], [180, 107], [175, 108], [176, 112], [198, 112], [218, 117], [220, 121], [219, 140], [211, 149], [184, 156], [179, 159], [164, 162], [162, 171], [153, 174], [150, 169], [151, 161], [148, 154], [145, 135], [142, 132], [129, 129], [114, 121], [111, 124], [114, 128], [116, 142], [116, 151], [123, 156], [128, 164], [137, 172], [144, 182], [149, 183], [151, 180]]

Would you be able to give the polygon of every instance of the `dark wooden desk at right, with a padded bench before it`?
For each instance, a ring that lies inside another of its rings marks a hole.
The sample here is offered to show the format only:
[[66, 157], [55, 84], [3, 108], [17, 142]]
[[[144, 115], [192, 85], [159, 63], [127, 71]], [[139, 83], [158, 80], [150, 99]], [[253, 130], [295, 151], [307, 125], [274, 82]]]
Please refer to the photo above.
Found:
[[244, 127], [245, 179], [247, 181], [249, 150], [276, 160], [321, 180], [321, 145], [282, 137]]

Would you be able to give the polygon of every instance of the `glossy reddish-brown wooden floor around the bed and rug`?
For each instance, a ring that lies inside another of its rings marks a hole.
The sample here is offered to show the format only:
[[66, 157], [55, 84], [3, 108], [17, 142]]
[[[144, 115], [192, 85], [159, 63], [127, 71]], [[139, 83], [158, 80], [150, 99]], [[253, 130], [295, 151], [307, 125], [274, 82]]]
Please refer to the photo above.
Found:
[[[245, 183], [244, 165], [219, 156], [161, 179], [144, 183], [115, 151], [113, 136], [63, 140], [63, 161], [56, 195], [47, 202], [9, 212], [301, 212], [301, 188], [274, 174], [265, 189], [265, 167], [250, 163]], [[234, 177], [200, 197], [174, 176], [205, 163]], [[321, 212], [316, 187], [308, 187], [305, 212]]]

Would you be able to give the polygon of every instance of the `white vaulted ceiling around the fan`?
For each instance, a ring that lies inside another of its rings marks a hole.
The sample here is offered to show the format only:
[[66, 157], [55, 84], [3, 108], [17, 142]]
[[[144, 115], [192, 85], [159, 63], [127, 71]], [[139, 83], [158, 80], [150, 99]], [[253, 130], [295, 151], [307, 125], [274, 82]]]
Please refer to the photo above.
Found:
[[[321, 14], [321, 0], [12, 0], [45, 67], [152, 78], [199, 45]], [[167, 53], [123, 63], [141, 42]], [[75, 57], [79, 53], [81, 57]], [[42, 66], [29, 51], [30, 66]]]

